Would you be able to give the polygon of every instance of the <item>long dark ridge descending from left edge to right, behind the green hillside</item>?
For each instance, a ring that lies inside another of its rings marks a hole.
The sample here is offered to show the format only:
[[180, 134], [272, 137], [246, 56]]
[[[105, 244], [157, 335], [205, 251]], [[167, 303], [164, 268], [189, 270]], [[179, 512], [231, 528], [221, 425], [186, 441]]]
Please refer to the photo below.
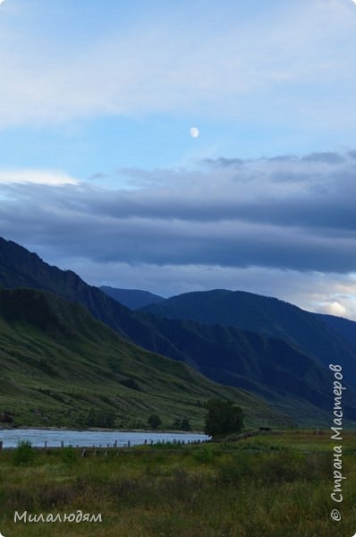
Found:
[[[330, 371], [294, 340], [291, 343], [266, 333], [168, 320], [144, 311], [131, 311], [97, 287], [87, 285], [71, 270], [51, 267], [37, 254], [4, 239], [0, 239], [0, 286], [30, 286], [81, 303], [98, 320], [137, 345], [186, 362], [214, 381], [249, 389], [289, 413], [295, 422], [330, 423]], [[332, 362], [338, 363], [342, 349], [348, 360], [353, 359], [354, 354], [343, 338], [318, 322], [324, 331], [314, 335], [329, 337], [328, 344], [334, 349]], [[298, 333], [298, 328], [294, 331]], [[355, 419], [355, 401], [354, 390], [347, 389], [343, 402], [351, 420]]]

